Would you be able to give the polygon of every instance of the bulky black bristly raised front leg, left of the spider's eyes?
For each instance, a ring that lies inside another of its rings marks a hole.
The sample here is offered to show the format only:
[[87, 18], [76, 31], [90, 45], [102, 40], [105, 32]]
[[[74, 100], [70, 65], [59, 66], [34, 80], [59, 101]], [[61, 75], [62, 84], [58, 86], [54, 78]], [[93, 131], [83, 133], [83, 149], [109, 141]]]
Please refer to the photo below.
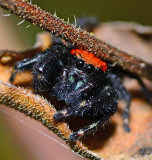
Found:
[[43, 52], [43, 55], [40, 55], [40, 60], [33, 66], [32, 72], [33, 87], [36, 93], [48, 93], [49, 96], [54, 96], [52, 89], [69, 55], [69, 49], [60, 42], [56, 42], [50, 49]]

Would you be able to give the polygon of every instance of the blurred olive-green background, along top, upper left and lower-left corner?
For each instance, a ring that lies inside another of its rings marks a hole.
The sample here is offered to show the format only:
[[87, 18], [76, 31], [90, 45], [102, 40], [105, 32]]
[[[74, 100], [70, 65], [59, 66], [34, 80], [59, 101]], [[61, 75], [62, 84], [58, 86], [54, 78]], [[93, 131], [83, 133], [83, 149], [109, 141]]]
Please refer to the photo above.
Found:
[[[66, 21], [69, 17], [70, 22], [74, 21], [74, 15], [76, 17], [95, 15], [101, 22], [120, 20], [152, 25], [152, 0], [32, 0], [32, 2], [50, 13], [56, 12], [58, 17], [64, 18]], [[34, 25], [26, 28], [29, 25], [28, 22], [17, 26], [21, 18], [14, 15], [6, 17], [6, 19], [11, 24], [11, 27], [17, 30], [20, 37], [22, 37], [21, 41], [25, 47], [32, 45], [35, 40], [35, 34], [41, 32], [41, 29]], [[0, 117], [0, 159], [20, 160], [23, 157], [28, 159], [18, 150], [18, 147], [13, 142], [14, 140], [8, 136], [8, 132], [11, 131], [4, 124], [5, 122]]]

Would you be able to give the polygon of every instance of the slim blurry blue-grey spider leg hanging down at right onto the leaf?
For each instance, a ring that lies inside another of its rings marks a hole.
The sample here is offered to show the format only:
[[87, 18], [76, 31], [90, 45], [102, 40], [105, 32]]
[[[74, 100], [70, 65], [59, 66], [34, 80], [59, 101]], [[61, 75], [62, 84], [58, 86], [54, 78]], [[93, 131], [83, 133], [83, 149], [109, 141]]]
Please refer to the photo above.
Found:
[[129, 127], [129, 110], [130, 110], [130, 103], [131, 103], [131, 95], [126, 90], [126, 88], [123, 86], [121, 79], [116, 75], [109, 73], [109, 77], [111, 79], [111, 82], [113, 84], [113, 87], [117, 90], [118, 96], [120, 99], [124, 99], [126, 101], [126, 106], [123, 111], [122, 117], [123, 117], [123, 127], [126, 132], [130, 132]]

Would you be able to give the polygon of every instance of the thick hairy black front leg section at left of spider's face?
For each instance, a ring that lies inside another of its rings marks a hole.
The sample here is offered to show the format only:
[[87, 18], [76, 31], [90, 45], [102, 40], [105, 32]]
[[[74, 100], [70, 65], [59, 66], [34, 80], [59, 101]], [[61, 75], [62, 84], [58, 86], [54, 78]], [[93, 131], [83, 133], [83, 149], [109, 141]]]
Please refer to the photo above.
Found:
[[36, 93], [49, 93], [51, 95], [52, 87], [61, 72], [63, 67], [60, 59], [62, 53], [54, 50], [54, 48], [56, 48], [56, 45], [45, 51], [48, 54], [33, 67], [33, 87]]

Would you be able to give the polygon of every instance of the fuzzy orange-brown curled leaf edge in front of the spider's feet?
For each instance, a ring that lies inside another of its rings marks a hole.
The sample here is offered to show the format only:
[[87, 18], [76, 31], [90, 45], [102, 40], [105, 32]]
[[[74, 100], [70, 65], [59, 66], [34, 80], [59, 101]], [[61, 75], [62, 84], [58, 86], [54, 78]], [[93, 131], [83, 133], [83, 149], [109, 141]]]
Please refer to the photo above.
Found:
[[102, 157], [89, 151], [81, 142], [72, 143], [68, 139], [71, 134], [69, 127], [65, 123], [56, 123], [54, 121], [53, 115], [56, 113], [56, 109], [42, 97], [32, 94], [23, 88], [0, 81], [0, 103], [9, 105], [41, 121], [43, 125], [61, 137], [78, 155], [93, 160], [103, 160]]

